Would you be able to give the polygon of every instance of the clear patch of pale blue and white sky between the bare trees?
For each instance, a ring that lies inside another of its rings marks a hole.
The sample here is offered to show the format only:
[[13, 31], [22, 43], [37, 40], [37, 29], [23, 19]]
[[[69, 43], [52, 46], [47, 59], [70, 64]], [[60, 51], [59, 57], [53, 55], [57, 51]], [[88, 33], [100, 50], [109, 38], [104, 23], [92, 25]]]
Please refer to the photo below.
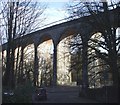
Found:
[[46, 2], [47, 3], [47, 9], [45, 11], [46, 20], [44, 24], [49, 24], [61, 19], [64, 19], [68, 17], [67, 11], [66, 11], [66, 3], [69, 0], [66, 0], [66, 2], [59, 1], [59, 2]]

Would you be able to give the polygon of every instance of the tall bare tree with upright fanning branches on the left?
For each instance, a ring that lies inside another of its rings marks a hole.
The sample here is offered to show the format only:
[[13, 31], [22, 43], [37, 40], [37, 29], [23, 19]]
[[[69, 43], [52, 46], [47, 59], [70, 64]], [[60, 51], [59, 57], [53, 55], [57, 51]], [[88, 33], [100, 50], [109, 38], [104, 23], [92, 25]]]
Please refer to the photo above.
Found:
[[[45, 18], [41, 17], [46, 6], [41, 5], [37, 2], [32, 2], [32, 0], [16, 1], [13, 2], [2, 2], [2, 23], [3, 35], [6, 37], [7, 42], [7, 60], [6, 60], [6, 72], [3, 79], [3, 84], [15, 86], [15, 39], [24, 36], [27, 33], [35, 31], [38, 29], [38, 23], [44, 21]], [[38, 21], [39, 19], [39, 21]], [[21, 40], [19, 40], [19, 45], [21, 46]], [[22, 48], [21, 48], [22, 49]], [[21, 50], [22, 51], [22, 50]], [[17, 50], [17, 65], [18, 56], [20, 50]], [[22, 55], [22, 54], [21, 54]], [[21, 56], [21, 62], [23, 58]], [[17, 66], [16, 66], [17, 68]]]

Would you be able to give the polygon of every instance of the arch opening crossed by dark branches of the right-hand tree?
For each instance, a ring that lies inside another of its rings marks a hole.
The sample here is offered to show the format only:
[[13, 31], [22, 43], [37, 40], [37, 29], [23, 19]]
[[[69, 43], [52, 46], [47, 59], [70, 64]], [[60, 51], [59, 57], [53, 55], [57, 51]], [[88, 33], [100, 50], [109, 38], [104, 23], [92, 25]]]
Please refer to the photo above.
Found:
[[100, 54], [108, 55], [104, 35], [94, 33], [88, 41], [88, 77], [89, 88], [101, 88], [112, 85], [112, 74], [108, 63]]

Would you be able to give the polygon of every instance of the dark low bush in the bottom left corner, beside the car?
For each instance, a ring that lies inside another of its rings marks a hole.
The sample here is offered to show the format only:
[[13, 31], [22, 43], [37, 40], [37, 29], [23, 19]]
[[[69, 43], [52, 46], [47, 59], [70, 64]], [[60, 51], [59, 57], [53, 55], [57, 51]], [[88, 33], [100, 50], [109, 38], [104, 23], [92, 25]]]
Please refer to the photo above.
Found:
[[18, 85], [13, 92], [14, 95], [9, 97], [3, 94], [3, 103], [31, 103], [34, 87], [31, 82], [26, 82]]

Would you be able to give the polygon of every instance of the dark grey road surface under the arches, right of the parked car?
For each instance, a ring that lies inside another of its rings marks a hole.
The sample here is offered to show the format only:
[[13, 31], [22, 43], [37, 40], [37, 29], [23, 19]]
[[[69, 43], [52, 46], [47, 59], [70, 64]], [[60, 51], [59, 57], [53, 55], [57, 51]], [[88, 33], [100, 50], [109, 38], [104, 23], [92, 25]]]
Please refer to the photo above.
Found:
[[48, 87], [47, 100], [35, 103], [99, 103], [98, 101], [79, 97], [78, 86]]

